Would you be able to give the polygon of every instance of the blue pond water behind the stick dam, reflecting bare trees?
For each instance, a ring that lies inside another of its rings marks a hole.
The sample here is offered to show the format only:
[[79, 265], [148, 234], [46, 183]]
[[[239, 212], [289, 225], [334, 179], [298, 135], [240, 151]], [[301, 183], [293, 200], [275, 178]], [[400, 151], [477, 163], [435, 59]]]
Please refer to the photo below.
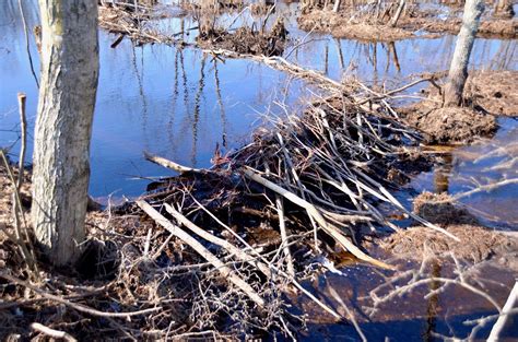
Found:
[[[351, 74], [367, 83], [388, 86], [404, 83], [417, 73], [447, 69], [455, 37], [409, 39], [393, 44], [366, 44], [307, 35], [296, 27], [297, 3], [280, 3], [276, 15], [286, 17], [294, 42], [285, 57], [304, 67], [320, 70], [333, 79]], [[24, 1], [28, 27], [38, 22], [36, 1]], [[174, 9], [172, 10], [174, 12]], [[246, 13], [245, 13], [246, 14]], [[242, 15], [234, 27], [259, 21]], [[229, 24], [236, 13], [219, 21]], [[192, 19], [167, 17], [156, 26], [176, 33], [192, 27]], [[34, 129], [37, 89], [31, 73], [23, 23], [17, 1], [8, 0], [0, 8], [0, 145], [10, 146], [16, 157], [19, 116], [16, 93], [27, 94], [30, 131]], [[186, 40], [192, 42], [191, 31]], [[309, 96], [305, 84], [260, 63], [237, 59], [224, 63], [204, 56], [196, 48], [177, 49], [164, 45], [134, 46], [129, 39], [117, 48], [116, 39], [99, 31], [101, 75], [92, 137], [92, 177], [90, 191], [102, 198], [138, 196], [146, 180], [140, 177], [170, 175], [145, 162], [143, 151], [175, 160], [185, 165], [210, 166], [216, 144], [224, 151], [249, 139], [264, 113], [280, 113], [275, 99], [303, 106]], [[32, 58], [38, 74], [38, 54], [30, 35]], [[296, 49], [293, 46], [299, 45]], [[516, 40], [478, 39], [472, 68], [517, 69]], [[415, 91], [411, 90], [411, 91]], [[32, 134], [28, 155], [32, 153]]]

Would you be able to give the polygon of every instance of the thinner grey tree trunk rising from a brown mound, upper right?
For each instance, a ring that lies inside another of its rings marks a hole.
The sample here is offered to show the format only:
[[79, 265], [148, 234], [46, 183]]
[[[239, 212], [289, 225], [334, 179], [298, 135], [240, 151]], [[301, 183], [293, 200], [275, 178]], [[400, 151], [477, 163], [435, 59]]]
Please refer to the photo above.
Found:
[[454, 58], [445, 87], [445, 106], [459, 106], [462, 102], [466, 79], [468, 79], [468, 63], [471, 49], [479, 30], [480, 16], [484, 11], [483, 0], [467, 0], [462, 16], [462, 27], [457, 36]]

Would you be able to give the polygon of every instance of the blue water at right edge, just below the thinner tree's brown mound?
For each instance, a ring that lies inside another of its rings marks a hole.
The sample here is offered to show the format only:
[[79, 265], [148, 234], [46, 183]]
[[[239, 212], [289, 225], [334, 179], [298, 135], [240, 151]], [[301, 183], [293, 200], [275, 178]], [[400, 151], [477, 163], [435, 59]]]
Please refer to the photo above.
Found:
[[[429, 173], [415, 177], [410, 187], [417, 191], [459, 194], [480, 186], [518, 178], [518, 120], [501, 118], [496, 137], [473, 145], [438, 151], [443, 163]], [[518, 185], [507, 184], [462, 197], [459, 201], [487, 226], [518, 227]]]

